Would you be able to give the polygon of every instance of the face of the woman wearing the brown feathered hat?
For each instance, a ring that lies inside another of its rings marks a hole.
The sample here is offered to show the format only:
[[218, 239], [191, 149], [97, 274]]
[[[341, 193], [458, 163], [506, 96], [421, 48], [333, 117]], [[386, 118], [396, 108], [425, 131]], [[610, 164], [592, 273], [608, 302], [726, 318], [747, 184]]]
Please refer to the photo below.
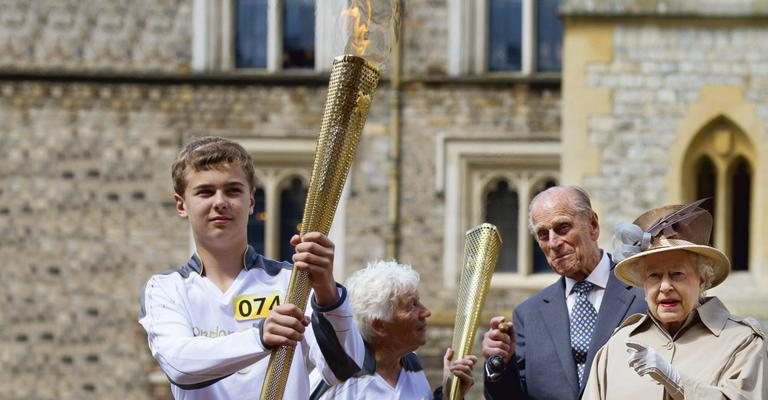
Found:
[[704, 289], [694, 260], [697, 257], [685, 250], [645, 257], [643, 289], [648, 311], [670, 334], [680, 329]]

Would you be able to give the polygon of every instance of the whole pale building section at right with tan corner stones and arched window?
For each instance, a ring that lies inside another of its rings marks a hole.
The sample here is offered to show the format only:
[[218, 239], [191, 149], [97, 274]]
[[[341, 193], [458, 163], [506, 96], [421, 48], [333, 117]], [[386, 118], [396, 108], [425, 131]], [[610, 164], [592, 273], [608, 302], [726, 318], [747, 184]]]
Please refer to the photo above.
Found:
[[563, 180], [594, 195], [608, 229], [656, 204], [712, 197], [712, 238], [734, 264], [712, 292], [763, 321], [767, 7], [572, 1], [562, 9], [562, 141], [573, 150], [563, 153]]

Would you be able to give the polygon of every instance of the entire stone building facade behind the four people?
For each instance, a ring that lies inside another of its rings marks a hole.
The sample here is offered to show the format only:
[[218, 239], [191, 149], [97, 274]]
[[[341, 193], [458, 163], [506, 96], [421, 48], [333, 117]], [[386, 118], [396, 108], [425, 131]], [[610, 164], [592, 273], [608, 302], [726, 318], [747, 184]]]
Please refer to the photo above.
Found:
[[[226, 30], [211, 28], [226, 27], [215, 18], [226, 3], [0, 2], [0, 398], [168, 397], [137, 300], [191, 252], [169, 177], [190, 138], [243, 143], [266, 192], [306, 184], [329, 61], [318, 49], [312, 71], [234, 69], [213, 40]], [[555, 279], [531, 267], [525, 234], [525, 204], [543, 186], [592, 192], [609, 246], [613, 222], [695, 197], [692, 155], [741, 156], [749, 263], [717, 294], [768, 320], [763, 2], [565, 1], [562, 74], [478, 69], [473, 2], [403, 3], [401, 73], [385, 70], [375, 94], [333, 237], [340, 280], [371, 258], [421, 272], [433, 317], [419, 353], [434, 385], [463, 232], [502, 181], [518, 196], [517, 264], [494, 277], [486, 316]]]

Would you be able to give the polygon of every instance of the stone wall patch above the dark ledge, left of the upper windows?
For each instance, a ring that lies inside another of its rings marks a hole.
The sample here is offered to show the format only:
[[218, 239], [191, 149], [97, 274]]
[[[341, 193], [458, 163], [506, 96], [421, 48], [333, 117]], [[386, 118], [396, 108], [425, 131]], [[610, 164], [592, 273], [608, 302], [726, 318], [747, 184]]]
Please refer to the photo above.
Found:
[[2, 0], [0, 69], [188, 71], [191, 0]]

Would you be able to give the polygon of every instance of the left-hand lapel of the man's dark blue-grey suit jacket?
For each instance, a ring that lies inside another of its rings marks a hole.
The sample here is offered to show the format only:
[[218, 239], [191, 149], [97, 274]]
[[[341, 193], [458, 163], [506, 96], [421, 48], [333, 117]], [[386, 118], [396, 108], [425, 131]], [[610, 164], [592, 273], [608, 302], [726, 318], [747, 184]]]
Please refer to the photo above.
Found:
[[544, 289], [542, 303], [539, 305], [541, 318], [547, 326], [557, 358], [565, 372], [568, 384], [574, 392], [579, 390], [579, 378], [576, 374], [576, 362], [571, 352], [570, 320], [568, 307], [565, 305], [565, 279], [560, 278], [554, 285]]

